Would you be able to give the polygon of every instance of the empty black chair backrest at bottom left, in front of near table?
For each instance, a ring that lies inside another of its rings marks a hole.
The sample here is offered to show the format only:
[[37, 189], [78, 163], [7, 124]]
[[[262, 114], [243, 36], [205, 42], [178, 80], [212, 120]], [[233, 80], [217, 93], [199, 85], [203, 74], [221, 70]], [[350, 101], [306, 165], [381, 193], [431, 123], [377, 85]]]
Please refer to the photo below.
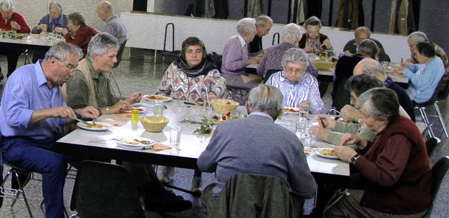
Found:
[[70, 209], [79, 217], [144, 218], [137, 186], [121, 165], [81, 161]]

